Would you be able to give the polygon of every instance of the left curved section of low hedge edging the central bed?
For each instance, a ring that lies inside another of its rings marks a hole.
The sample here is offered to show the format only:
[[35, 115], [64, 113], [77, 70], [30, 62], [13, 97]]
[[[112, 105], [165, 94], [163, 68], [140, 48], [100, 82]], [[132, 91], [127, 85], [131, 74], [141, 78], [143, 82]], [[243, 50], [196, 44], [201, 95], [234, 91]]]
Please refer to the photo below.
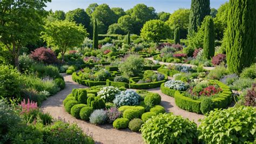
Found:
[[98, 85], [106, 85], [106, 81], [92, 81], [87, 79], [82, 79], [77, 76], [76, 72], [72, 73], [72, 79], [78, 84], [86, 85], [86, 86], [98, 86]]

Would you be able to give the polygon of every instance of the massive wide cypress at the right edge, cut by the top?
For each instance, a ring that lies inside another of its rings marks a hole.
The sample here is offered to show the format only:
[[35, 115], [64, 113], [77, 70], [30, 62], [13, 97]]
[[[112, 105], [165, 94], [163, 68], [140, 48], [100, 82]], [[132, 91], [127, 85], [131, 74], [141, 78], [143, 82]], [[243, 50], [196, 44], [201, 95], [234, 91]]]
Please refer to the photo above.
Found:
[[256, 1], [232, 0], [227, 19], [227, 66], [239, 74], [256, 56]]

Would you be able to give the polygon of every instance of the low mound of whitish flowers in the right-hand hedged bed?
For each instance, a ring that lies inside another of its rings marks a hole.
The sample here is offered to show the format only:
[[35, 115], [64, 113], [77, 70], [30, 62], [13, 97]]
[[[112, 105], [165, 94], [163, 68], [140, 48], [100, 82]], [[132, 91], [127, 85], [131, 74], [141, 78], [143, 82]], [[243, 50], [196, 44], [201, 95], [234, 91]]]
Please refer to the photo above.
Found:
[[178, 91], [186, 91], [187, 88], [188, 88], [188, 85], [183, 83], [183, 81], [180, 81], [180, 80], [166, 81], [164, 86], [168, 87], [168, 88], [171, 88], [173, 90], [178, 90]]

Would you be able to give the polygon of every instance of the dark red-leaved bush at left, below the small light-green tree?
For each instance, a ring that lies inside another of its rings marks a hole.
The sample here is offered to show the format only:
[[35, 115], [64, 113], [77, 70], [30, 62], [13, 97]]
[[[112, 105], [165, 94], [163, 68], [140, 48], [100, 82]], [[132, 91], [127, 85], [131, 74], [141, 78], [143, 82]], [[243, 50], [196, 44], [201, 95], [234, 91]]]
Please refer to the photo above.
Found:
[[45, 64], [57, 64], [59, 60], [51, 49], [39, 47], [30, 54], [30, 57], [37, 61], [42, 61]]

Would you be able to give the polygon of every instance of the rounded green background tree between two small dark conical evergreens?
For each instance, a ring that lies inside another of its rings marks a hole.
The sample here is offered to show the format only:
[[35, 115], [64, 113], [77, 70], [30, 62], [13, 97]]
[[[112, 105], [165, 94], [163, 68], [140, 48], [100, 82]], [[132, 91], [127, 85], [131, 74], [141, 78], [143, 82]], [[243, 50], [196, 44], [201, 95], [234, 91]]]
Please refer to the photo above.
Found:
[[170, 27], [159, 19], [147, 21], [142, 28], [140, 36], [145, 40], [152, 40], [157, 44], [161, 39], [170, 37]]

